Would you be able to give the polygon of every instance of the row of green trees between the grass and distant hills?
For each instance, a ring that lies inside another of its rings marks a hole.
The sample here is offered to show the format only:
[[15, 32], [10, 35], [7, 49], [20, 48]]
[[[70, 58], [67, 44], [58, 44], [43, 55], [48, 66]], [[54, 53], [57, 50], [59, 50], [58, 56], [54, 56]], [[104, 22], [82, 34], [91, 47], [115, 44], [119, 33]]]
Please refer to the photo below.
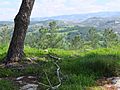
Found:
[[[38, 48], [60, 48], [68, 50], [87, 50], [97, 48], [110, 48], [119, 45], [119, 33], [112, 29], [98, 31], [91, 28], [86, 34], [60, 33], [55, 21], [49, 23], [48, 27], [41, 26], [37, 32], [27, 33], [25, 45]], [[12, 35], [11, 29], [7, 25], [1, 28], [0, 44], [8, 44]]]

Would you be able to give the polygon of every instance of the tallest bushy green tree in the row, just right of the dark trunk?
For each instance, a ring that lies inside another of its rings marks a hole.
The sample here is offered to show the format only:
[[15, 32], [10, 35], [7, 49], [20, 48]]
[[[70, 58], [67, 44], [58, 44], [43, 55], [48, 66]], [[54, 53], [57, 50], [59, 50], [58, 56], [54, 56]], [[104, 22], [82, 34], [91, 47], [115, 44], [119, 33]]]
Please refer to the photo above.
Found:
[[34, 44], [30, 39], [27, 40], [30, 41], [28, 45], [39, 49], [61, 48], [64, 35], [58, 33], [58, 29], [55, 21], [50, 22], [48, 27], [41, 26], [39, 32], [32, 33], [31, 35], [31, 37], [34, 37]]

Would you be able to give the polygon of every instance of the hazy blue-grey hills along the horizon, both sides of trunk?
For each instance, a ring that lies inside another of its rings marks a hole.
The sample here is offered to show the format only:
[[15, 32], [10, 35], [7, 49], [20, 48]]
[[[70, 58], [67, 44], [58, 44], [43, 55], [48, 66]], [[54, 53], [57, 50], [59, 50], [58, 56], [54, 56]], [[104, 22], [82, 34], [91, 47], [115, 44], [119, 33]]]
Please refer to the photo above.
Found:
[[[52, 20], [59, 26], [96, 27], [97, 29], [112, 28], [120, 32], [120, 12], [98, 12], [88, 14], [61, 15], [54, 17], [31, 18], [31, 25], [47, 26]], [[12, 21], [0, 21], [0, 26], [13, 25]]]

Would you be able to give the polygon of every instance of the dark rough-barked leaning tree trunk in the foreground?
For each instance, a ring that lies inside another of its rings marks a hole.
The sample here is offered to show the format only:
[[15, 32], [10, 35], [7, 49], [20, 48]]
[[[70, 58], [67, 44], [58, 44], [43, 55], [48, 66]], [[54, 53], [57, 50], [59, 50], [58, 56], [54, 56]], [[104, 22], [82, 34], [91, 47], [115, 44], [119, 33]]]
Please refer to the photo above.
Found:
[[14, 19], [14, 32], [7, 52], [5, 63], [20, 61], [24, 56], [24, 40], [35, 0], [22, 0], [18, 14]]

